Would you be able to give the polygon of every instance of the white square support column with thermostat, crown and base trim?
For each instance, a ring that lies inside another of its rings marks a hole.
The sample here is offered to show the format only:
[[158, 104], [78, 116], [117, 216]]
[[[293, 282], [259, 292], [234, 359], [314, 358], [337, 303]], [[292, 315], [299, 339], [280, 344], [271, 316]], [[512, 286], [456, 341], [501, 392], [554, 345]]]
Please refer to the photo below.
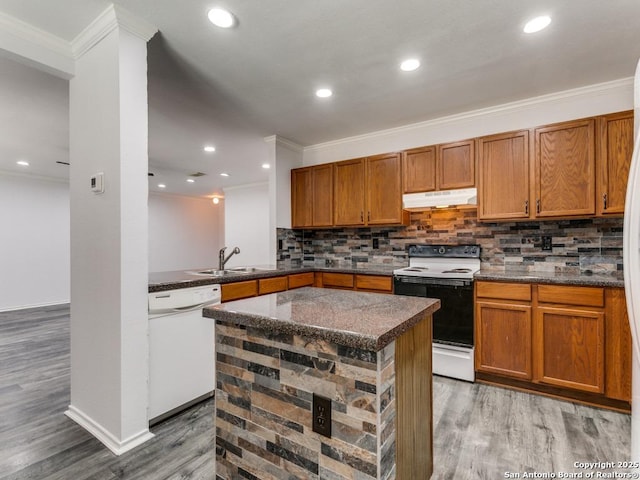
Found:
[[[111, 5], [73, 42], [71, 404], [121, 454], [153, 435], [148, 403], [147, 49], [156, 29]], [[104, 193], [91, 190], [104, 175]]]

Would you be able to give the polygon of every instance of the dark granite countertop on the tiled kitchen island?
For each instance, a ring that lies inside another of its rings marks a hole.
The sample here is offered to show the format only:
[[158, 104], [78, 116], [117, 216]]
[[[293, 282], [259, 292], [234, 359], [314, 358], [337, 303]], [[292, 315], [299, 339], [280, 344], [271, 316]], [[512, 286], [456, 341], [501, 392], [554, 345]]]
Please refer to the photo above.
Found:
[[204, 309], [204, 316], [378, 351], [440, 308], [440, 300], [304, 287]]

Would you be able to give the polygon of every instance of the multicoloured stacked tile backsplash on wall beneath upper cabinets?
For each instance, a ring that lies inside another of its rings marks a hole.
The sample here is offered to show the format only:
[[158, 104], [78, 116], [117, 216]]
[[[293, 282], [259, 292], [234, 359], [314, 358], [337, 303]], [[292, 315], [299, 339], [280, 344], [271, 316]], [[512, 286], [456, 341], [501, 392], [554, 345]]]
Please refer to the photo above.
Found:
[[622, 226], [622, 218], [481, 223], [474, 209], [433, 209], [412, 213], [407, 227], [278, 229], [278, 263], [401, 267], [410, 244], [478, 244], [485, 269], [613, 273], [622, 270]]

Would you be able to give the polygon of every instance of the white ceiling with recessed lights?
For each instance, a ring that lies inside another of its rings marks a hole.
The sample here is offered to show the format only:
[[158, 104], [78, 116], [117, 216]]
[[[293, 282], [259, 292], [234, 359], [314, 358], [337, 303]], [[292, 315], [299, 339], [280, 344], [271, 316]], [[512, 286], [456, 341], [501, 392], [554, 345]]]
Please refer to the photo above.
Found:
[[[114, 3], [159, 29], [148, 49], [150, 189], [187, 195], [266, 181], [271, 135], [315, 145], [630, 77], [640, 58], [638, 0]], [[71, 41], [108, 4], [0, 0], [0, 11]], [[235, 28], [209, 23], [216, 5]], [[551, 25], [524, 34], [541, 14]], [[401, 72], [412, 56], [422, 67]], [[0, 70], [0, 170], [25, 171], [24, 158], [34, 174], [66, 176], [56, 163], [68, 161], [66, 81], [7, 59]], [[317, 98], [322, 86], [334, 95]], [[195, 172], [206, 176], [186, 183]]]

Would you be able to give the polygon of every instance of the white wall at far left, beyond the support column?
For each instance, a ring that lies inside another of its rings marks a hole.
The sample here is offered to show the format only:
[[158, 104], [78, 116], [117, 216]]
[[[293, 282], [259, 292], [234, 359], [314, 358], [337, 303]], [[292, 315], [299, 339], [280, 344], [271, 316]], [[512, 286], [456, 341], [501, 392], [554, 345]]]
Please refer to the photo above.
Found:
[[69, 186], [0, 175], [0, 310], [69, 302]]

